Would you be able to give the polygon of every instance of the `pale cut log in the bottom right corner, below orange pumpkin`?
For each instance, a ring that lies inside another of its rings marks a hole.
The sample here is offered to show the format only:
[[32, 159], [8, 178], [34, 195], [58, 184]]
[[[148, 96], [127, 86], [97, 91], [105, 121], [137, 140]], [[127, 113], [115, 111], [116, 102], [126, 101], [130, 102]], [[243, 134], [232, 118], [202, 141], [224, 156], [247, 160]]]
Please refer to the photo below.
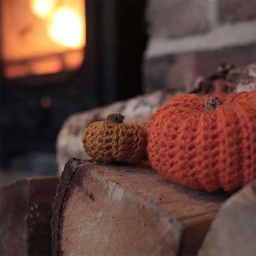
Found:
[[222, 205], [199, 255], [256, 255], [255, 211], [254, 180]]

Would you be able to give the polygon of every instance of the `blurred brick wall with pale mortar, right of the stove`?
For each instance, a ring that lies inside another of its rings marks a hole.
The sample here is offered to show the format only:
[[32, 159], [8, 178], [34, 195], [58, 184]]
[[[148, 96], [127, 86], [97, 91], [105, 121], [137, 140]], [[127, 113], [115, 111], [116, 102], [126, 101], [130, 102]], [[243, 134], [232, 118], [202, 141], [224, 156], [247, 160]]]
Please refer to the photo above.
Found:
[[220, 63], [255, 61], [255, 0], [150, 0], [144, 92], [185, 90]]

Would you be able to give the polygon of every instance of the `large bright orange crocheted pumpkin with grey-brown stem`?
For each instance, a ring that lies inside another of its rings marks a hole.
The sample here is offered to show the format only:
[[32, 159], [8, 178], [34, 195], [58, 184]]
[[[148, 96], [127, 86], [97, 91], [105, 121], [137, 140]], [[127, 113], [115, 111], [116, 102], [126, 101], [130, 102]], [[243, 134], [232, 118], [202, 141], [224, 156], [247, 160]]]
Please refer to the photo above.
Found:
[[217, 96], [175, 96], [151, 116], [148, 159], [166, 179], [214, 191], [255, 178], [256, 91]]

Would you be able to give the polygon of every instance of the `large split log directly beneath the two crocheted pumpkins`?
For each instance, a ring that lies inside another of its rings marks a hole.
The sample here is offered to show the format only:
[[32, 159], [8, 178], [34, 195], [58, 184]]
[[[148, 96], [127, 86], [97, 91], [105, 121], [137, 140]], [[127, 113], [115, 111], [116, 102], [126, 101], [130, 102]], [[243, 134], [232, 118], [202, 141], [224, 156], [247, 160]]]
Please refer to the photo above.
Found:
[[70, 158], [53, 203], [53, 254], [196, 255], [229, 195], [166, 181], [147, 161]]

